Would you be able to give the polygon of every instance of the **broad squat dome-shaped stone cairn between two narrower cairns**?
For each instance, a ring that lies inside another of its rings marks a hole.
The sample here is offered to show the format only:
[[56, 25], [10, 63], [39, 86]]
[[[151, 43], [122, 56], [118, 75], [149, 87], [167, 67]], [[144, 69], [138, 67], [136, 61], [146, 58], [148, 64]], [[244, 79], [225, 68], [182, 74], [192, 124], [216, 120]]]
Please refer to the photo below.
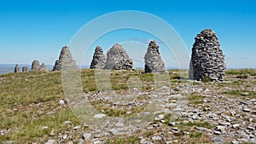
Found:
[[126, 50], [118, 43], [115, 43], [111, 49], [108, 50], [106, 69], [108, 70], [132, 70], [132, 61]]

